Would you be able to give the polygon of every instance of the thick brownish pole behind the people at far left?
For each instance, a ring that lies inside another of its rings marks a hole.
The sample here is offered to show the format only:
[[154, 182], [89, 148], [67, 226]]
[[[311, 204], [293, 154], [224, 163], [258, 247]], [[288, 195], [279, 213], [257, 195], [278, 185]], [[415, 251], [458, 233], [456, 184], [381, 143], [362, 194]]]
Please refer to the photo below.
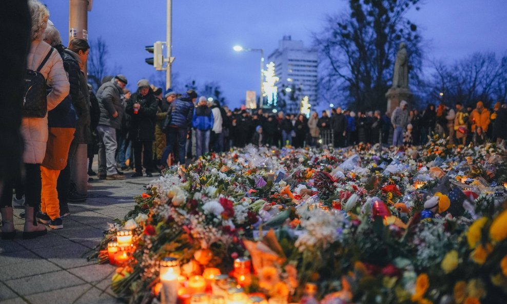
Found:
[[[76, 38], [88, 40], [88, 0], [70, 0], [69, 3], [69, 43]], [[87, 78], [87, 64], [83, 63], [83, 73]], [[86, 144], [77, 145], [71, 179], [77, 192], [86, 194], [88, 191], [88, 149]]]

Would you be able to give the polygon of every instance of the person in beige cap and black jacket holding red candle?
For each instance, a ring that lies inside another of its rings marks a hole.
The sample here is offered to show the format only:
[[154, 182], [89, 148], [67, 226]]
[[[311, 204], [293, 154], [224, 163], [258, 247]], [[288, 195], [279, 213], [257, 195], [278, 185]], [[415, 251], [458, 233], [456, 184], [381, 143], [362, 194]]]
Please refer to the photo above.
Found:
[[125, 112], [131, 118], [129, 136], [134, 148], [135, 165], [135, 172], [132, 177], [143, 176], [143, 167], [146, 176], [152, 177], [157, 99], [155, 99], [148, 80], [139, 80], [138, 90], [130, 96]]

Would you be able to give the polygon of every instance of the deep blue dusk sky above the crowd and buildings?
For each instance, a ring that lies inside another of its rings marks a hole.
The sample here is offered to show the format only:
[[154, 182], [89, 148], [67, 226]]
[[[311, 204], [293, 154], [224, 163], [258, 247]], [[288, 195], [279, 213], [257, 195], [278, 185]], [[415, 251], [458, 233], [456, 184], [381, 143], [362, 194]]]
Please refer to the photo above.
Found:
[[[41, 0], [50, 19], [68, 43], [69, 2]], [[426, 58], [453, 61], [476, 51], [507, 51], [507, 1], [427, 0], [408, 13], [422, 30]], [[238, 107], [246, 90], [258, 90], [260, 54], [235, 52], [234, 45], [262, 48], [267, 56], [283, 35], [311, 46], [312, 33], [324, 26], [326, 14], [346, 10], [344, 0], [175, 0], [172, 4], [173, 73], [177, 84], [217, 81]], [[102, 36], [109, 47], [109, 66], [120, 67], [129, 88], [155, 73], [144, 62], [144, 47], [166, 36], [165, 0], [94, 0], [88, 13], [89, 39]], [[93, 51], [93, 50], [91, 50]], [[199, 92], [198, 92], [199, 93]]]

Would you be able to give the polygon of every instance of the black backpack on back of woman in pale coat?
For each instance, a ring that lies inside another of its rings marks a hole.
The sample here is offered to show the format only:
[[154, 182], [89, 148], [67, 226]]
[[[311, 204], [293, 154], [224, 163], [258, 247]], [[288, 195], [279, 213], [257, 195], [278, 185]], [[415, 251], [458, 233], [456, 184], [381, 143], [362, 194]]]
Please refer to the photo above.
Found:
[[41, 69], [48, 61], [53, 48], [49, 50], [41, 65], [36, 71], [27, 69], [23, 84], [25, 95], [23, 96], [23, 117], [44, 118], [48, 110], [46, 95], [46, 78], [41, 74]]

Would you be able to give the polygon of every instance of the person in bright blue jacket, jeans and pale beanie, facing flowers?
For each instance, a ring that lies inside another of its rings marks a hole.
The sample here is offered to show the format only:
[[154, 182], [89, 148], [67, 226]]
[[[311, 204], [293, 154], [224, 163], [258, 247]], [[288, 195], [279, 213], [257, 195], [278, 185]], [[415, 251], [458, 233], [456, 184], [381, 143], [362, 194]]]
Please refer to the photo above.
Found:
[[199, 99], [192, 118], [192, 127], [196, 130], [196, 157], [198, 158], [209, 152], [209, 139], [213, 123], [213, 112], [207, 106], [206, 98]]

